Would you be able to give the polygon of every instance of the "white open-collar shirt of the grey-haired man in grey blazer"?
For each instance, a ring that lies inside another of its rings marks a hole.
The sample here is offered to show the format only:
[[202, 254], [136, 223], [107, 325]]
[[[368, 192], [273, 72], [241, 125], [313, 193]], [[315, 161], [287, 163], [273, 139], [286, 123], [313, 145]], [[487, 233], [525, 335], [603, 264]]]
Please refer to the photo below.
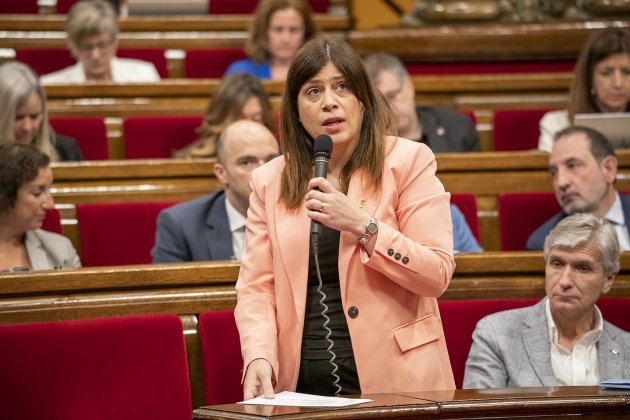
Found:
[[599, 365], [597, 362], [597, 342], [602, 336], [602, 314], [595, 309], [595, 327], [580, 338], [573, 351], [558, 343], [558, 328], [551, 316], [549, 300], [545, 303], [549, 341], [551, 342], [551, 368], [560, 386], [599, 385]]

